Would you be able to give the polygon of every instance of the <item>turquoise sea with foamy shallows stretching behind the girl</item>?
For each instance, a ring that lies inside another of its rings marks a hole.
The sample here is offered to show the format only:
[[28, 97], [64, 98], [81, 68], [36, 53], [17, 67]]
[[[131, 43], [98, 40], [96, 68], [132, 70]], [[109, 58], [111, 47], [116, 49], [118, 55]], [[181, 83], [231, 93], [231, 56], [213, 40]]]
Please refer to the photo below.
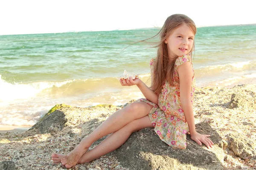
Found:
[[[158, 31], [0, 36], [0, 124], [33, 125], [59, 103], [119, 105], [143, 97], [136, 87], [119, 85], [118, 78], [126, 69], [147, 82], [157, 49], [134, 42]], [[197, 86], [255, 79], [256, 26], [198, 28], [193, 65]]]

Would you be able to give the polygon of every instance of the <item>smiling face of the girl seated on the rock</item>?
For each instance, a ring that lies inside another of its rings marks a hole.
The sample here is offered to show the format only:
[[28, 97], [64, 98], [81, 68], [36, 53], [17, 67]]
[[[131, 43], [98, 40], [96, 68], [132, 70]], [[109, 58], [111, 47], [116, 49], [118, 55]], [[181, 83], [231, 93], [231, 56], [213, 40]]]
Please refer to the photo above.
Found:
[[195, 34], [186, 24], [175, 28], [164, 41], [167, 44], [168, 56], [183, 56], [189, 54], [194, 43]]

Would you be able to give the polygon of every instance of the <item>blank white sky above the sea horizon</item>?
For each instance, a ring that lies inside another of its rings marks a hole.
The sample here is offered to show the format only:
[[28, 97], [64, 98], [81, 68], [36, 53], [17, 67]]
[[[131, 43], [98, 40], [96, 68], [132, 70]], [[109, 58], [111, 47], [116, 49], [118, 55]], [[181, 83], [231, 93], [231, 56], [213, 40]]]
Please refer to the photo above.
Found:
[[254, 0], [2, 0], [0, 35], [162, 27], [172, 14], [202, 26], [255, 24]]

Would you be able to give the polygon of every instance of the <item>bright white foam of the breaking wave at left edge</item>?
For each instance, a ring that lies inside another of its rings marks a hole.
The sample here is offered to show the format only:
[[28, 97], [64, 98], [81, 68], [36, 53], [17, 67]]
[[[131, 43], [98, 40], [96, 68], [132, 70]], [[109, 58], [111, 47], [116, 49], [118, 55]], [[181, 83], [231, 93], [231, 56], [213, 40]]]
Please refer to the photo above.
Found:
[[44, 89], [61, 87], [73, 80], [64, 82], [32, 82], [32, 83], [8, 83], [0, 75], [0, 100], [10, 101], [15, 99], [28, 99], [35, 97], [36, 94]]

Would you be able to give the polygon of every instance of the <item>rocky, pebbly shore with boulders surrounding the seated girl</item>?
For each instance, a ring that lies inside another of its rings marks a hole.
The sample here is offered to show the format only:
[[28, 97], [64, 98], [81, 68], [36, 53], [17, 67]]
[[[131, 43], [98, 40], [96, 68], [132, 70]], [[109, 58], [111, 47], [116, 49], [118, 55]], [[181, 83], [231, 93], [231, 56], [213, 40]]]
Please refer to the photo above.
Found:
[[[132, 102], [132, 101], [131, 101]], [[0, 169], [62, 170], [52, 153], [67, 154], [105, 119], [124, 106], [89, 108], [58, 105], [26, 132], [0, 134]], [[212, 149], [187, 135], [187, 149], [160, 141], [151, 128], [133, 133], [125, 144], [81, 170], [254, 170], [256, 169], [256, 85], [198, 88], [194, 115], [198, 132], [210, 134]], [[104, 138], [95, 142], [91, 148]]]

